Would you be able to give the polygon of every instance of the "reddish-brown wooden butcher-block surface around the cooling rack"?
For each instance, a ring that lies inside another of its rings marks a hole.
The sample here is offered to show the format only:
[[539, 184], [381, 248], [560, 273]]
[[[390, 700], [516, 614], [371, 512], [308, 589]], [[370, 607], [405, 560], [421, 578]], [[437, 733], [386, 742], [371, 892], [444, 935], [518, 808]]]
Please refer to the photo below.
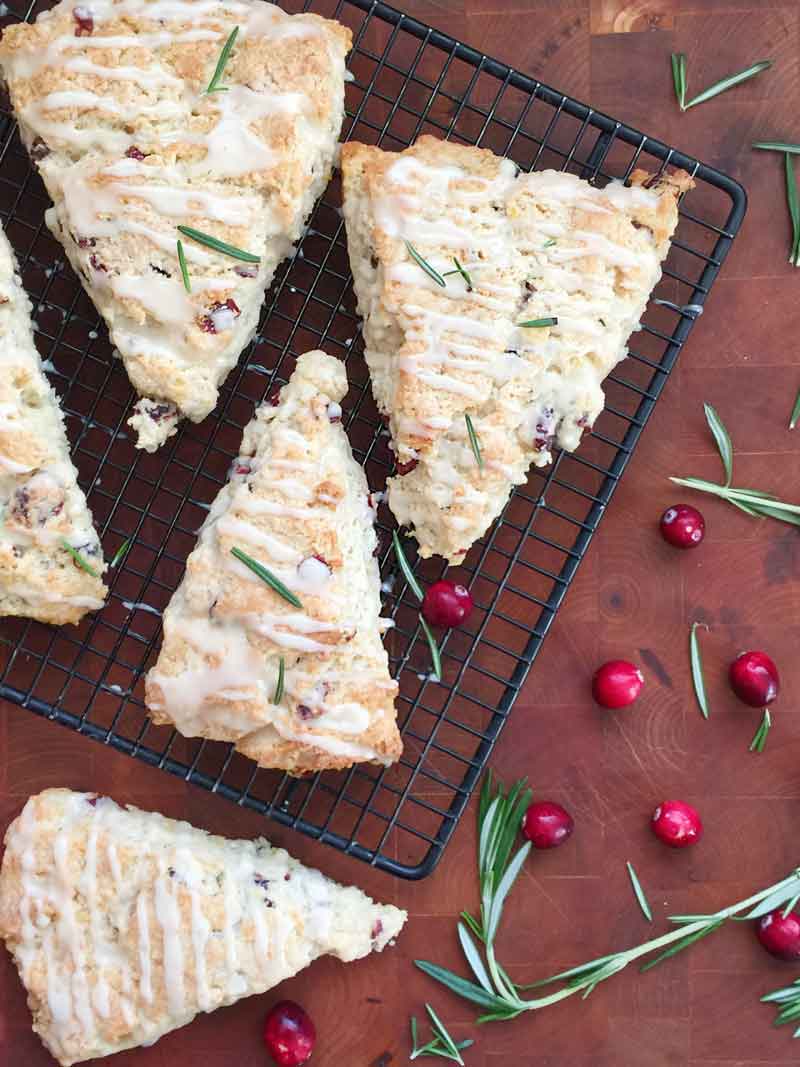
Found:
[[[780, 156], [757, 139], [798, 140], [800, 5], [779, 0], [409, 0], [411, 14], [599, 110], [660, 136], [739, 178], [750, 195], [741, 235], [697, 323], [655, 416], [581, 566], [502, 736], [494, 766], [527, 775], [540, 798], [564, 803], [576, 830], [534, 855], [507, 908], [499, 958], [518, 981], [638, 943], [665, 915], [708, 911], [777, 881], [800, 862], [800, 543], [797, 529], [759, 522], [722, 501], [694, 499], [708, 524], [691, 553], [669, 548], [657, 517], [676, 494], [668, 475], [716, 478], [702, 404], [715, 404], [736, 446], [739, 483], [800, 497], [800, 430], [786, 429], [800, 385], [798, 277], [787, 264], [789, 224]], [[690, 91], [771, 58], [768, 74], [686, 114], [675, 106], [670, 52], [688, 57]], [[688, 497], [687, 497], [688, 499]], [[694, 705], [687, 637], [703, 635], [714, 708]], [[783, 694], [767, 752], [748, 753], [758, 712], [737, 703], [725, 666], [743, 648], [768, 651]], [[593, 669], [638, 660], [646, 685], [635, 707], [604, 713], [590, 698]], [[716, 934], [652, 973], [631, 970], [588, 1001], [574, 999], [514, 1022], [476, 1028], [464, 1002], [411, 960], [461, 969], [454, 917], [476, 903], [475, 815], [462, 822], [436, 873], [393, 881], [365, 864], [265, 825], [37, 719], [0, 707], [0, 821], [46, 786], [102, 790], [228, 835], [267, 830], [301, 859], [406, 908], [397, 947], [350, 966], [322, 960], [279, 991], [316, 1020], [317, 1067], [399, 1067], [407, 1023], [430, 1000], [458, 1037], [473, 1036], [470, 1067], [788, 1067], [800, 1041], [771, 1026], [761, 994], [798, 976], [771, 960], [752, 929]], [[665, 798], [695, 805], [703, 842], [661, 846], [647, 828]], [[653, 904], [640, 914], [625, 872], [633, 860]], [[114, 1067], [256, 1067], [268, 1057], [261, 1019], [277, 994], [197, 1019]], [[423, 1063], [436, 1061], [422, 1061]], [[442, 1062], [442, 1061], [438, 1061]], [[0, 954], [0, 1063], [52, 1061], [30, 1030], [16, 972]], [[99, 1063], [99, 1061], [97, 1061]], [[106, 1061], [103, 1061], [106, 1063]]]

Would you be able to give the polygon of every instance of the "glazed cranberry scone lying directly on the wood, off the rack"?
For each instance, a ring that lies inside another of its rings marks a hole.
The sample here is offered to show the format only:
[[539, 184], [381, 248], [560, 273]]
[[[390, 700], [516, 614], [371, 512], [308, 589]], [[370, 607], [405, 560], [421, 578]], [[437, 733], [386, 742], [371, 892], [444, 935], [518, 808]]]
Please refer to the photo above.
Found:
[[0, 937], [64, 1065], [151, 1045], [319, 956], [381, 952], [406, 914], [267, 841], [46, 790], [5, 834]]

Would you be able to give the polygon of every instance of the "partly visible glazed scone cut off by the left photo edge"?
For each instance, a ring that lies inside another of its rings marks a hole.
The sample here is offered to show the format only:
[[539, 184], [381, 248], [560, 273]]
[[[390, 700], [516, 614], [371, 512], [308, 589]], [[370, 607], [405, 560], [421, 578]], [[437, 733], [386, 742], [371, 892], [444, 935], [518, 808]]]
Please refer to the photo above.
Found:
[[80, 622], [102, 607], [106, 563], [77, 474], [0, 229], [0, 615]]

